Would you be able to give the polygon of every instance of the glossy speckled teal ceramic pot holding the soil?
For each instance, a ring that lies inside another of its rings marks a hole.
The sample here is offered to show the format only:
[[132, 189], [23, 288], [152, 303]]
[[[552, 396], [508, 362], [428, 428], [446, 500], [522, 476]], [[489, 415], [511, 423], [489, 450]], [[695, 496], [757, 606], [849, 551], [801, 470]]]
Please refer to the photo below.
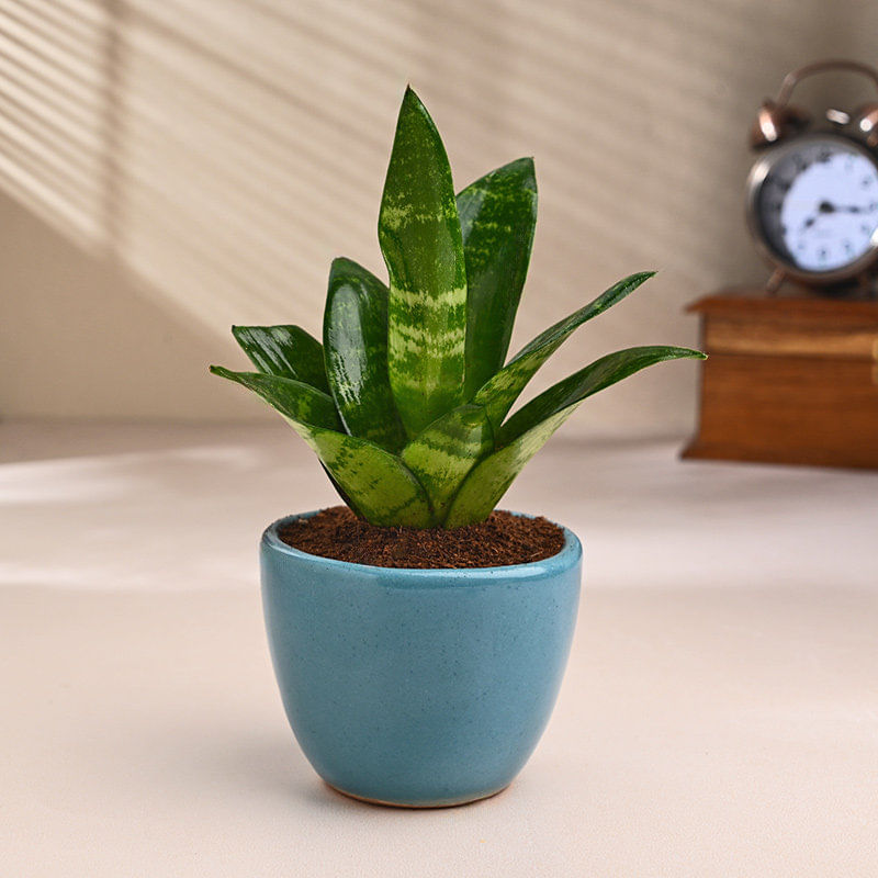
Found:
[[395, 570], [292, 549], [278, 530], [295, 518], [262, 536], [262, 600], [283, 706], [317, 774], [415, 808], [507, 787], [561, 686], [576, 537], [565, 529], [559, 554], [529, 564]]

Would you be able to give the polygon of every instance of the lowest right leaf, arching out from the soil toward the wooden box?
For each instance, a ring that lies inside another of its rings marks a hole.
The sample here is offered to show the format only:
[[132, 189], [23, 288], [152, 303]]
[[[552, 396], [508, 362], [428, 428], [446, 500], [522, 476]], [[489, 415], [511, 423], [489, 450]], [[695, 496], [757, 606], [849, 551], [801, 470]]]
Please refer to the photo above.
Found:
[[499, 451], [481, 461], [466, 477], [451, 504], [446, 527], [487, 518], [525, 464], [586, 397], [649, 365], [686, 357], [703, 359], [705, 354], [663, 346], [616, 351], [536, 396], [503, 425]]

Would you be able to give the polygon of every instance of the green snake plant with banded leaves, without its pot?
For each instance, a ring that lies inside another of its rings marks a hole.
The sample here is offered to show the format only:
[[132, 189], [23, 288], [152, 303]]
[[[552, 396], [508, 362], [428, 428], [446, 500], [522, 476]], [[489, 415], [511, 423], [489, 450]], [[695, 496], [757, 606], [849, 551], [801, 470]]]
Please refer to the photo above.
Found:
[[236, 326], [256, 371], [211, 371], [273, 406], [368, 521], [418, 528], [481, 521], [587, 396], [663, 360], [703, 357], [676, 347], [620, 350], [509, 416], [574, 329], [653, 273], [619, 281], [506, 362], [536, 221], [530, 158], [454, 195], [436, 125], [408, 89], [379, 216], [390, 282], [336, 259], [323, 344], [299, 326]]

